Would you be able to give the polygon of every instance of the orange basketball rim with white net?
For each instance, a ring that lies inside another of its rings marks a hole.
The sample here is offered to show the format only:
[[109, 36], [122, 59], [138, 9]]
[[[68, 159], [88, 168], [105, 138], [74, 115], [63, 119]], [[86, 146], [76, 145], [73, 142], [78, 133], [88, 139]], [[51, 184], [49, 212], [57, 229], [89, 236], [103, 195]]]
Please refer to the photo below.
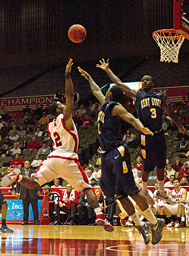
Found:
[[154, 40], [161, 50], [160, 61], [178, 62], [178, 53], [185, 37], [174, 29], [157, 30], [152, 34]]

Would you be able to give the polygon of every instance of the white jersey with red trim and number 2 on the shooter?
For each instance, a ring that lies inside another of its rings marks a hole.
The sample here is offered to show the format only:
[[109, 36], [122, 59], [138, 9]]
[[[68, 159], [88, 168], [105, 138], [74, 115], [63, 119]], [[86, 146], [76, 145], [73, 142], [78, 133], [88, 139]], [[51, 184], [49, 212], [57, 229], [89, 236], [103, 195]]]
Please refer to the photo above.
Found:
[[58, 115], [57, 119], [50, 122], [47, 131], [54, 141], [54, 149], [65, 149], [66, 151], [77, 153], [79, 139], [76, 125], [74, 124], [73, 131], [67, 129], [62, 113]]

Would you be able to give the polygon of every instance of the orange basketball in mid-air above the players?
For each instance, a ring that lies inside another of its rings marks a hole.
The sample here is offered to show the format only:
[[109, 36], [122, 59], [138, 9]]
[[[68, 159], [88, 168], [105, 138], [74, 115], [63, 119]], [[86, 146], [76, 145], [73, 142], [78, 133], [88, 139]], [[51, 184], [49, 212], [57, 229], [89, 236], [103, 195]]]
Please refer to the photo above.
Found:
[[84, 38], [86, 38], [86, 30], [84, 26], [79, 24], [72, 25], [68, 30], [68, 37], [74, 43], [83, 42]]

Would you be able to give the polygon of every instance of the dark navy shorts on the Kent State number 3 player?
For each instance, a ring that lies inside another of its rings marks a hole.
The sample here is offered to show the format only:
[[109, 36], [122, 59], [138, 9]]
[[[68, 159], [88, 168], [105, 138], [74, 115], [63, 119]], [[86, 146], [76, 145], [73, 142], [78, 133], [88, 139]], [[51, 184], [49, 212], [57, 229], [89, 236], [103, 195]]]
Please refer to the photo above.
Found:
[[139, 132], [139, 143], [144, 160], [144, 172], [154, 172], [156, 166], [164, 169], [167, 154], [164, 132], [154, 133], [154, 136], [146, 136]]

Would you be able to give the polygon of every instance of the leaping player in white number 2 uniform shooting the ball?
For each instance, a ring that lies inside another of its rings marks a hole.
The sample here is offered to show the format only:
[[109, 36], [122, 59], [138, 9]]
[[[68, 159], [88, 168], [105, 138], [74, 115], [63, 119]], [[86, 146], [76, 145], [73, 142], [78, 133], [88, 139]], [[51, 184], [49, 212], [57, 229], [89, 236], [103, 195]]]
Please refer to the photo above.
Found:
[[70, 76], [72, 59], [66, 66], [66, 105], [60, 102], [50, 104], [49, 112], [56, 118], [48, 125], [50, 136], [54, 141], [55, 151], [49, 154], [47, 160], [36, 170], [33, 176], [20, 175], [20, 170], [14, 169], [4, 177], [1, 185], [8, 187], [13, 182], [20, 182], [28, 189], [35, 189], [54, 178], [63, 178], [78, 192], [83, 190], [88, 198], [88, 203], [96, 213], [96, 224], [104, 226], [108, 232], [113, 231], [113, 226], [106, 220], [101, 211], [95, 193], [91, 190], [86, 173], [84, 173], [77, 155], [78, 135], [76, 125], [72, 120], [74, 107], [74, 88]]

